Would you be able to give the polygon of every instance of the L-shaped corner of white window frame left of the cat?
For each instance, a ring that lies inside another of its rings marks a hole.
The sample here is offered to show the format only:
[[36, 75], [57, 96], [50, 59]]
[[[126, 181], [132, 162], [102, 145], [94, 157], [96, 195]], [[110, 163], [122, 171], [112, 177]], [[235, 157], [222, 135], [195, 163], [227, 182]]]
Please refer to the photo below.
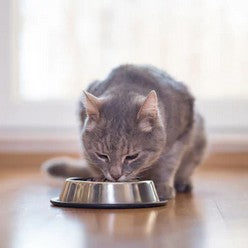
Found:
[[[18, 97], [18, 44], [15, 0], [1, 0], [0, 128], [70, 128], [76, 123], [77, 100], [24, 101]], [[60, 114], [63, 113], [63, 114]], [[47, 120], [50, 120], [49, 122]]]

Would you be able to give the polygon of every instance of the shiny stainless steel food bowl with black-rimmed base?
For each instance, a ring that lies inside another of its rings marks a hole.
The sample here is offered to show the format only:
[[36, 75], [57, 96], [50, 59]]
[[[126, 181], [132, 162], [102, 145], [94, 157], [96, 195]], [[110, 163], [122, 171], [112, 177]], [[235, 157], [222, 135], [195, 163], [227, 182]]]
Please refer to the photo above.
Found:
[[51, 203], [61, 207], [138, 208], [162, 206], [153, 181], [94, 182], [72, 177], [65, 181], [59, 198]]

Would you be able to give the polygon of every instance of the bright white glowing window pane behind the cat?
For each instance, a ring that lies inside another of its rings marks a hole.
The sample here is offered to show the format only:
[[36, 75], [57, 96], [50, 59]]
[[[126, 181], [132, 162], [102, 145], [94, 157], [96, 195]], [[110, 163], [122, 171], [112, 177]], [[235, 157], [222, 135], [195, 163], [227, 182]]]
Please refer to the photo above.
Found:
[[70, 100], [120, 63], [149, 63], [198, 98], [247, 99], [246, 0], [25, 0], [17, 6], [19, 95]]

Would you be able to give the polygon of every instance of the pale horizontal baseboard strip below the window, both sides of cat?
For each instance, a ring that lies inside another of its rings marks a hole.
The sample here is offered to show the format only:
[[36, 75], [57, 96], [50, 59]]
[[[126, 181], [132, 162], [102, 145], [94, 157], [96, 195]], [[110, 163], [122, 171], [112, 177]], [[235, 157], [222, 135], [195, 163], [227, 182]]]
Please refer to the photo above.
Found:
[[[248, 152], [248, 133], [209, 134], [210, 153]], [[79, 153], [77, 132], [55, 131], [0, 131], [2, 153]]]

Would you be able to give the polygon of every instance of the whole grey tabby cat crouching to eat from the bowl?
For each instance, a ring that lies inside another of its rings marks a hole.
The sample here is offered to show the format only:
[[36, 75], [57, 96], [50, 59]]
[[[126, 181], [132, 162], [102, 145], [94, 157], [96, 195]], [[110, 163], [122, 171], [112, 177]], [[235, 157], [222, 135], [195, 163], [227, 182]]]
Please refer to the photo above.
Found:
[[120, 65], [80, 101], [83, 159], [52, 159], [57, 177], [153, 180], [160, 199], [192, 189], [206, 134], [187, 87], [151, 65]]

